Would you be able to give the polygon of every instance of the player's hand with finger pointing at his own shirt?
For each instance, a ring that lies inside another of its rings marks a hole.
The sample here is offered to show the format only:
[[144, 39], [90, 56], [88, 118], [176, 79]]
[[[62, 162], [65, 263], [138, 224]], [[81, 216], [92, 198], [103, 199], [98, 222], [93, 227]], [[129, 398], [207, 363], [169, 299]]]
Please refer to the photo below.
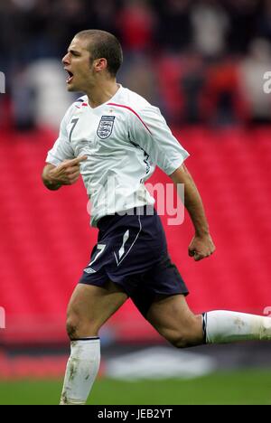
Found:
[[81, 155], [72, 160], [65, 160], [51, 170], [50, 177], [54, 183], [72, 185], [79, 179], [80, 163], [87, 160], [88, 155]]

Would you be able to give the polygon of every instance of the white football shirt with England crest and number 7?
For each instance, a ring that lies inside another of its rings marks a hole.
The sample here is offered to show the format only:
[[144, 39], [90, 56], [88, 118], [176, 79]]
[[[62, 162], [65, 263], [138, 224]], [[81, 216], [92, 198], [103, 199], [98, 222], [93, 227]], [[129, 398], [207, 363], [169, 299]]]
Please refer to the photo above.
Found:
[[144, 183], [155, 165], [173, 174], [189, 156], [159, 108], [121, 85], [97, 108], [89, 106], [87, 96], [72, 104], [46, 163], [57, 166], [80, 155], [88, 155], [80, 173], [91, 202], [92, 226], [107, 214], [154, 204]]

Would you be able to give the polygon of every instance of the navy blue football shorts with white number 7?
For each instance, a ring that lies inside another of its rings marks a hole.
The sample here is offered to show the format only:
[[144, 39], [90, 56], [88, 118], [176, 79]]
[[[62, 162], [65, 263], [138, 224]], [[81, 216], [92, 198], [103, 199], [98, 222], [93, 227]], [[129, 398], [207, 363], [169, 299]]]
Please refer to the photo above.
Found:
[[[133, 213], [133, 214], [132, 214]], [[169, 258], [162, 222], [154, 208], [135, 208], [98, 221], [98, 243], [79, 284], [123, 288], [142, 315], [154, 297], [189, 291]]]

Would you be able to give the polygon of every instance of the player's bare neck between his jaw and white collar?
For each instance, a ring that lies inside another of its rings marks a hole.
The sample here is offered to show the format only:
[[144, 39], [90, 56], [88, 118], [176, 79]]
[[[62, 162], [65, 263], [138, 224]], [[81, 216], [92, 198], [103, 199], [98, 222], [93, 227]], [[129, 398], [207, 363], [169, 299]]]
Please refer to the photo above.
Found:
[[101, 104], [106, 103], [109, 99], [117, 93], [119, 85], [116, 80], [106, 80], [97, 83], [94, 87], [86, 92], [89, 98], [89, 106], [91, 108], [98, 108]]

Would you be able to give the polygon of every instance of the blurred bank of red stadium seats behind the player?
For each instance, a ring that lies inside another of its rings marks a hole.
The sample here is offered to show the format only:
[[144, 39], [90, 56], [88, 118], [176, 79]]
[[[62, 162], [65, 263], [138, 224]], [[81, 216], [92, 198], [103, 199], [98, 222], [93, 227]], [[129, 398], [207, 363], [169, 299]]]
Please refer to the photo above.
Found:
[[[271, 305], [271, 131], [189, 129], [180, 132], [191, 153], [187, 166], [199, 186], [217, 245], [194, 263], [187, 248], [192, 224], [166, 226], [173, 261], [191, 290], [195, 312], [236, 309], [262, 314]], [[89, 229], [82, 183], [49, 192], [42, 166], [53, 136], [0, 135], [0, 306], [4, 343], [64, 342], [65, 313], [73, 287], [89, 260], [97, 230]], [[153, 183], [170, 182], [157, 171]], [[102, 333], [118, 341], [159, 340], [128, 302]]]

